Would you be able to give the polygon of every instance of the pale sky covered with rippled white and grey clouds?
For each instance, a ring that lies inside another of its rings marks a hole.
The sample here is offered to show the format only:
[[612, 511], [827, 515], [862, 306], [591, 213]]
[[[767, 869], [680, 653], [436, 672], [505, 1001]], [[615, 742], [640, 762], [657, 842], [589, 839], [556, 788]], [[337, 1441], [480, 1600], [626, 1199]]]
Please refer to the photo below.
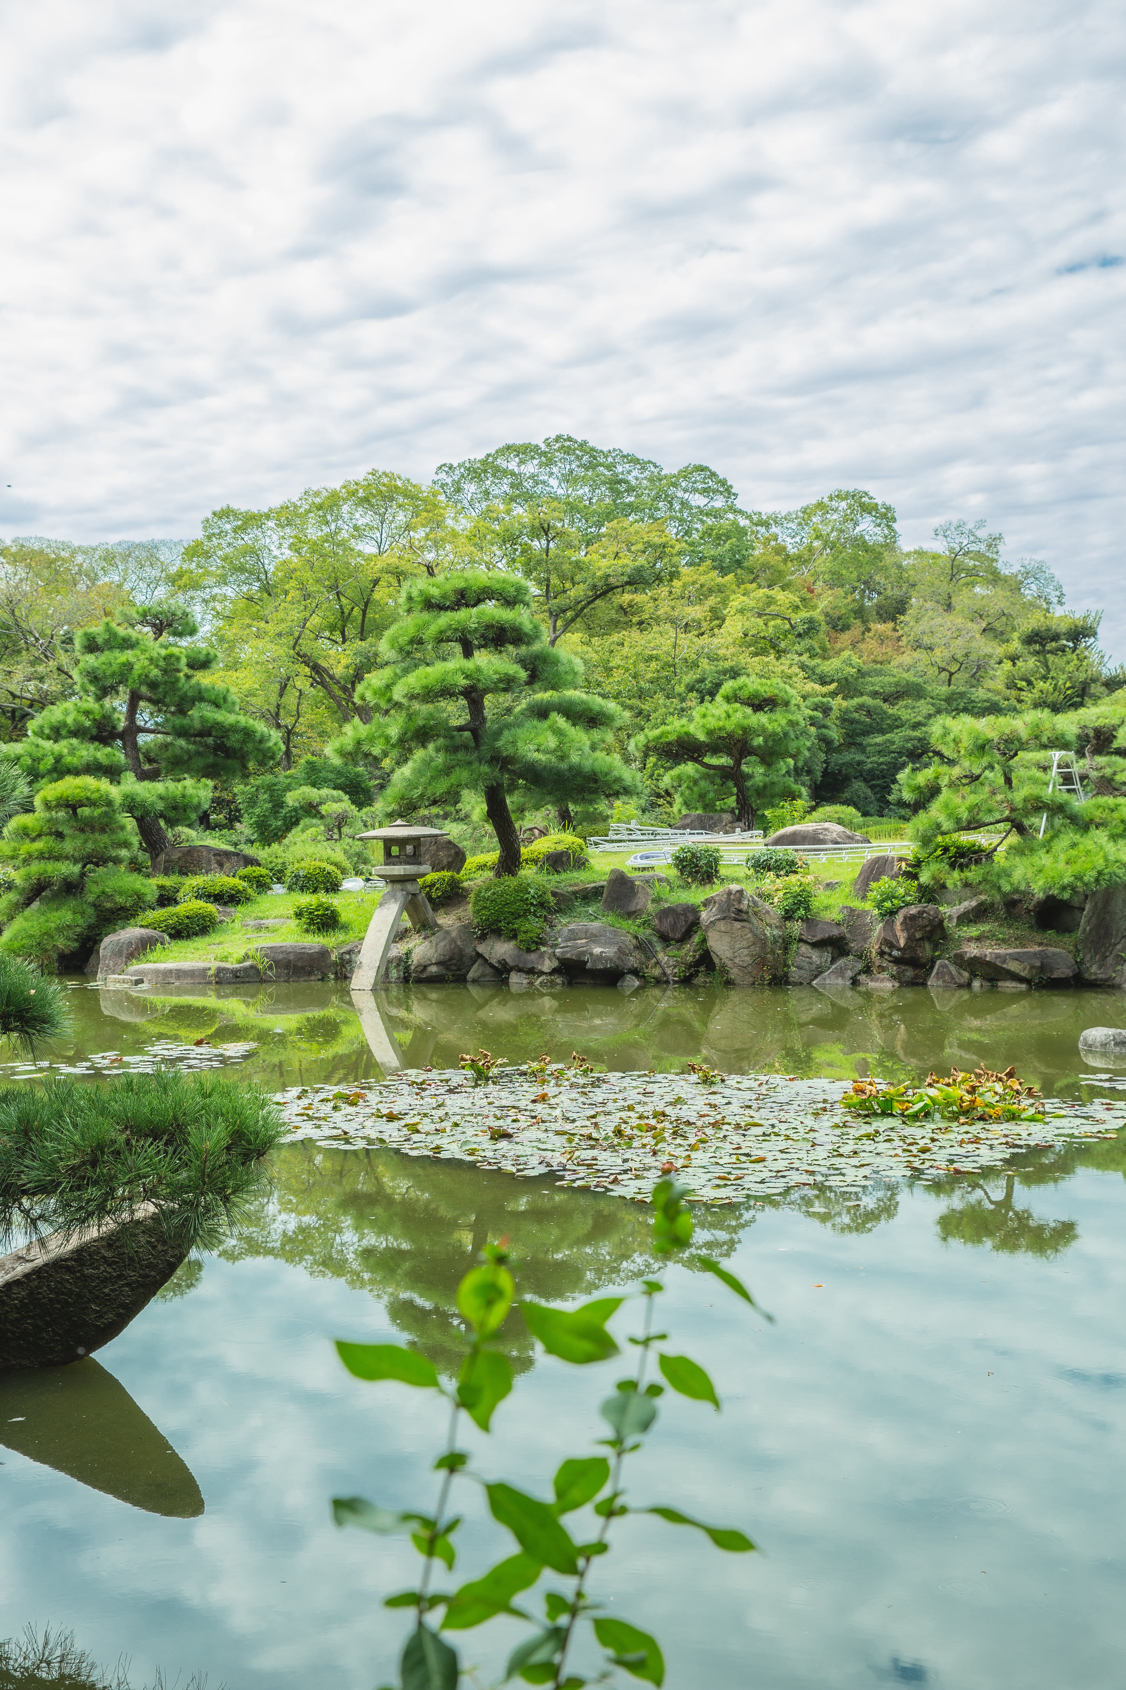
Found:
[[2, 15], [0, 534], [566, 431], [984, 517], [1126, 656], [1111, 0]]

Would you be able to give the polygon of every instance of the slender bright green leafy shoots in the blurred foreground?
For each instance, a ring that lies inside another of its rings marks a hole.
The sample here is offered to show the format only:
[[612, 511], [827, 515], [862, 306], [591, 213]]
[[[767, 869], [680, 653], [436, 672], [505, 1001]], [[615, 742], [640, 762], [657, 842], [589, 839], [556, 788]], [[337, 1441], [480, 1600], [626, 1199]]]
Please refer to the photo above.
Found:
[[[685, 1195], [687, 1188], [675, 1180], [662, 1180], [653, 1190], [653, 1249], [658, 1256], [680, 1254], [692, 1242], [692, 1215]], [[415, 1627], [400, 1660], [400, 1690], [456, 1690], [466, 1673], [457, 1651], [442, 1633], [468, 1631], [498, 1614], [533, 1627], [532, 1636], [510, 1653], [505, 1683], [518, 1676], [525, 1683], [552, 1685], [555, 1690], [581, 1690], [587, 1683], [606, 1683], [614, 1668], [621, 1668], [645, 1683], [662, 1685], [665, 1661], [660, 1644], [630, 1621], [608, 1614], [604, 1604], [591, 1594], [591, 1575], [601, 1556], [613, 1548], [614, 1521], [626, 1514], [655, 1514], [674, 1526], [692, 1526], [719, 1550], [746, 1553], [755, 1548], [744, 1533], [729, 1526], [704, 1524], [665, 1504], [635, 1506], [626, 1501], [626, 1457], [643, 1447], [643, 1438], [657, 1421], [657, 1399], [665, 1387], [717, 1411], [716, 1387], [690, 1357], [658, 1349], [669, 1337], [655, 1330], [655, 1300], [663, 1284], [643, 1279], [638, 1293], [643, 1303], [641, 1330], [628, 1340], [636, 1349], [636, 1367], [618, 1381], [599, 1406], [609, 1436], [601, 1438], [598, 1448], [609, 1453], [560, 1462], [552, 1479], [550, 1502], [505, 1480], [490, 1480], [473, 1472], [469, 1453], [457, 1448], [461, 1416], [469, 1415], [481, 1431], [490, 1431], [493, 1413], [512, 1391], [512, 1366], [506, 1355], [491, 1347], [515, 1306], [517, 1286], [508, 1262], [505, 1242], [486, 1246], [481, 1266], [473, 1268], [457, 1286], [457, 1308], [466, 1322], [468, 1338], [456, 1384], [444, 1384], [434, 1364], [415, 1350], [395, 1344], [338, 1342], [338, 1354], [356, 1379], [397, 1379], [424, 1391], [437, 1391], [449, 1403], [451, 1416], [446, 1448], [434, 1462], [441, 1484], [432, 1514], [395, 1513], [363, 1497], [336, 1497], [333, 1516], [338, 1526], [358, 1526], [380, 1535], [403, 1533], [422, 1556], [415, 1589], [392, 1595], [385, 1604], [415, 1612]], [[746, 1286], [719, 1262], [706, 1256], [696, 1256], [694, 1262], [755, 1306]], [[621, 1296], [606, 1296], [582, 1308], [562, 1310], [522, 1300], [518, 1306], [532, 1335], [550, 1355], [587, 1366], [620, 1354], [606, 1323], [625, 1301]], [[647, 1377], [653, 1352], [663, 1384]], [[441, 1592], [432, 1587], [436, 1563], [441, 1562], [452, 1572], [457, 1560], [454, 1533], [461, 1516], [451, 1514], [451, 1496], [459, 1480], [479, 1486], [493, 1519], [512, 1533], [517, 1553], [457, 1590]], [[587, 1507], [594, 1519], [582, 1535], [572, 1536], [562, 1524], [564, 1518]], [[545, 1570], [557, 1575], [554, 1584], [562, 1584], [562, 1589], [544, 1592], [544, 1617], [533, 1619], [515, 1599], [537, 1585]], [[432, 1616], [439, 1611], [444, 1614], [436, 1629]], [[604, 1651], [598, 1678], [569, 1668], [579, 1631], [587, 1624]]]

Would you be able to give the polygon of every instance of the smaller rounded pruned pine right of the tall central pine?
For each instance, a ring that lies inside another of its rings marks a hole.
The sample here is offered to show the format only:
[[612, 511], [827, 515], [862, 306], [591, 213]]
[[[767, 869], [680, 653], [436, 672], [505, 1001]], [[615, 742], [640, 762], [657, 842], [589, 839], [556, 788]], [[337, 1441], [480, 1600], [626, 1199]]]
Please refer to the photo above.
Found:
[[694, 776], [701, 799], [714, 804], [734, 796], [739, 826], [750, 831], [760, 810], [800, 796], [795, 767], [815, 737], [793, 686], [777, 676], [741, 674], [724, 681], [711, 703], [638, 735], [633, 745], [638, 755]]

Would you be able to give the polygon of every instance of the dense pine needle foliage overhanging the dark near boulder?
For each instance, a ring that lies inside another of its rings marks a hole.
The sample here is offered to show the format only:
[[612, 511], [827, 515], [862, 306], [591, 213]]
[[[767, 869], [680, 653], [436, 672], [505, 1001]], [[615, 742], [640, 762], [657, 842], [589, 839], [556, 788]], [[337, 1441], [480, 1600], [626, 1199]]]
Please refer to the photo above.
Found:
[[186, 1247], [214, 1242], [282, 1134], [255, 1087], [172, 1073], [0, 1088], [0, 1229], [76, 1230], [155, 1203]]

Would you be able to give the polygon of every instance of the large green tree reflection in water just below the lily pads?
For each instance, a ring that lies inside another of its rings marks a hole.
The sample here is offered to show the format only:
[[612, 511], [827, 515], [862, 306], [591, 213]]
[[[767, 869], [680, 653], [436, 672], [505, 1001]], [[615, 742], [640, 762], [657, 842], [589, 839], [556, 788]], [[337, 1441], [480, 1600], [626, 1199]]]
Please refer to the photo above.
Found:
[[[731, 1254], [750, 1218], [741, 1207], [699, 1207], [701, 1251]], [[616, 1197], [304, 1141], [279, 1154], [273, 1198], [258, 1203], [223, 1256], [273, 1256], [370, 1291], [400, 1332], [452, 1371], [464, 1350], [457, 1281], [490, 1239], [512, 1239], [520, 1295], [562, 1303], [652, 1273], [650, 1224], [648, 1205]], [[510, 1320], [505, 1333], [513, 1366], [528, 1367], [522, 1322]]]

